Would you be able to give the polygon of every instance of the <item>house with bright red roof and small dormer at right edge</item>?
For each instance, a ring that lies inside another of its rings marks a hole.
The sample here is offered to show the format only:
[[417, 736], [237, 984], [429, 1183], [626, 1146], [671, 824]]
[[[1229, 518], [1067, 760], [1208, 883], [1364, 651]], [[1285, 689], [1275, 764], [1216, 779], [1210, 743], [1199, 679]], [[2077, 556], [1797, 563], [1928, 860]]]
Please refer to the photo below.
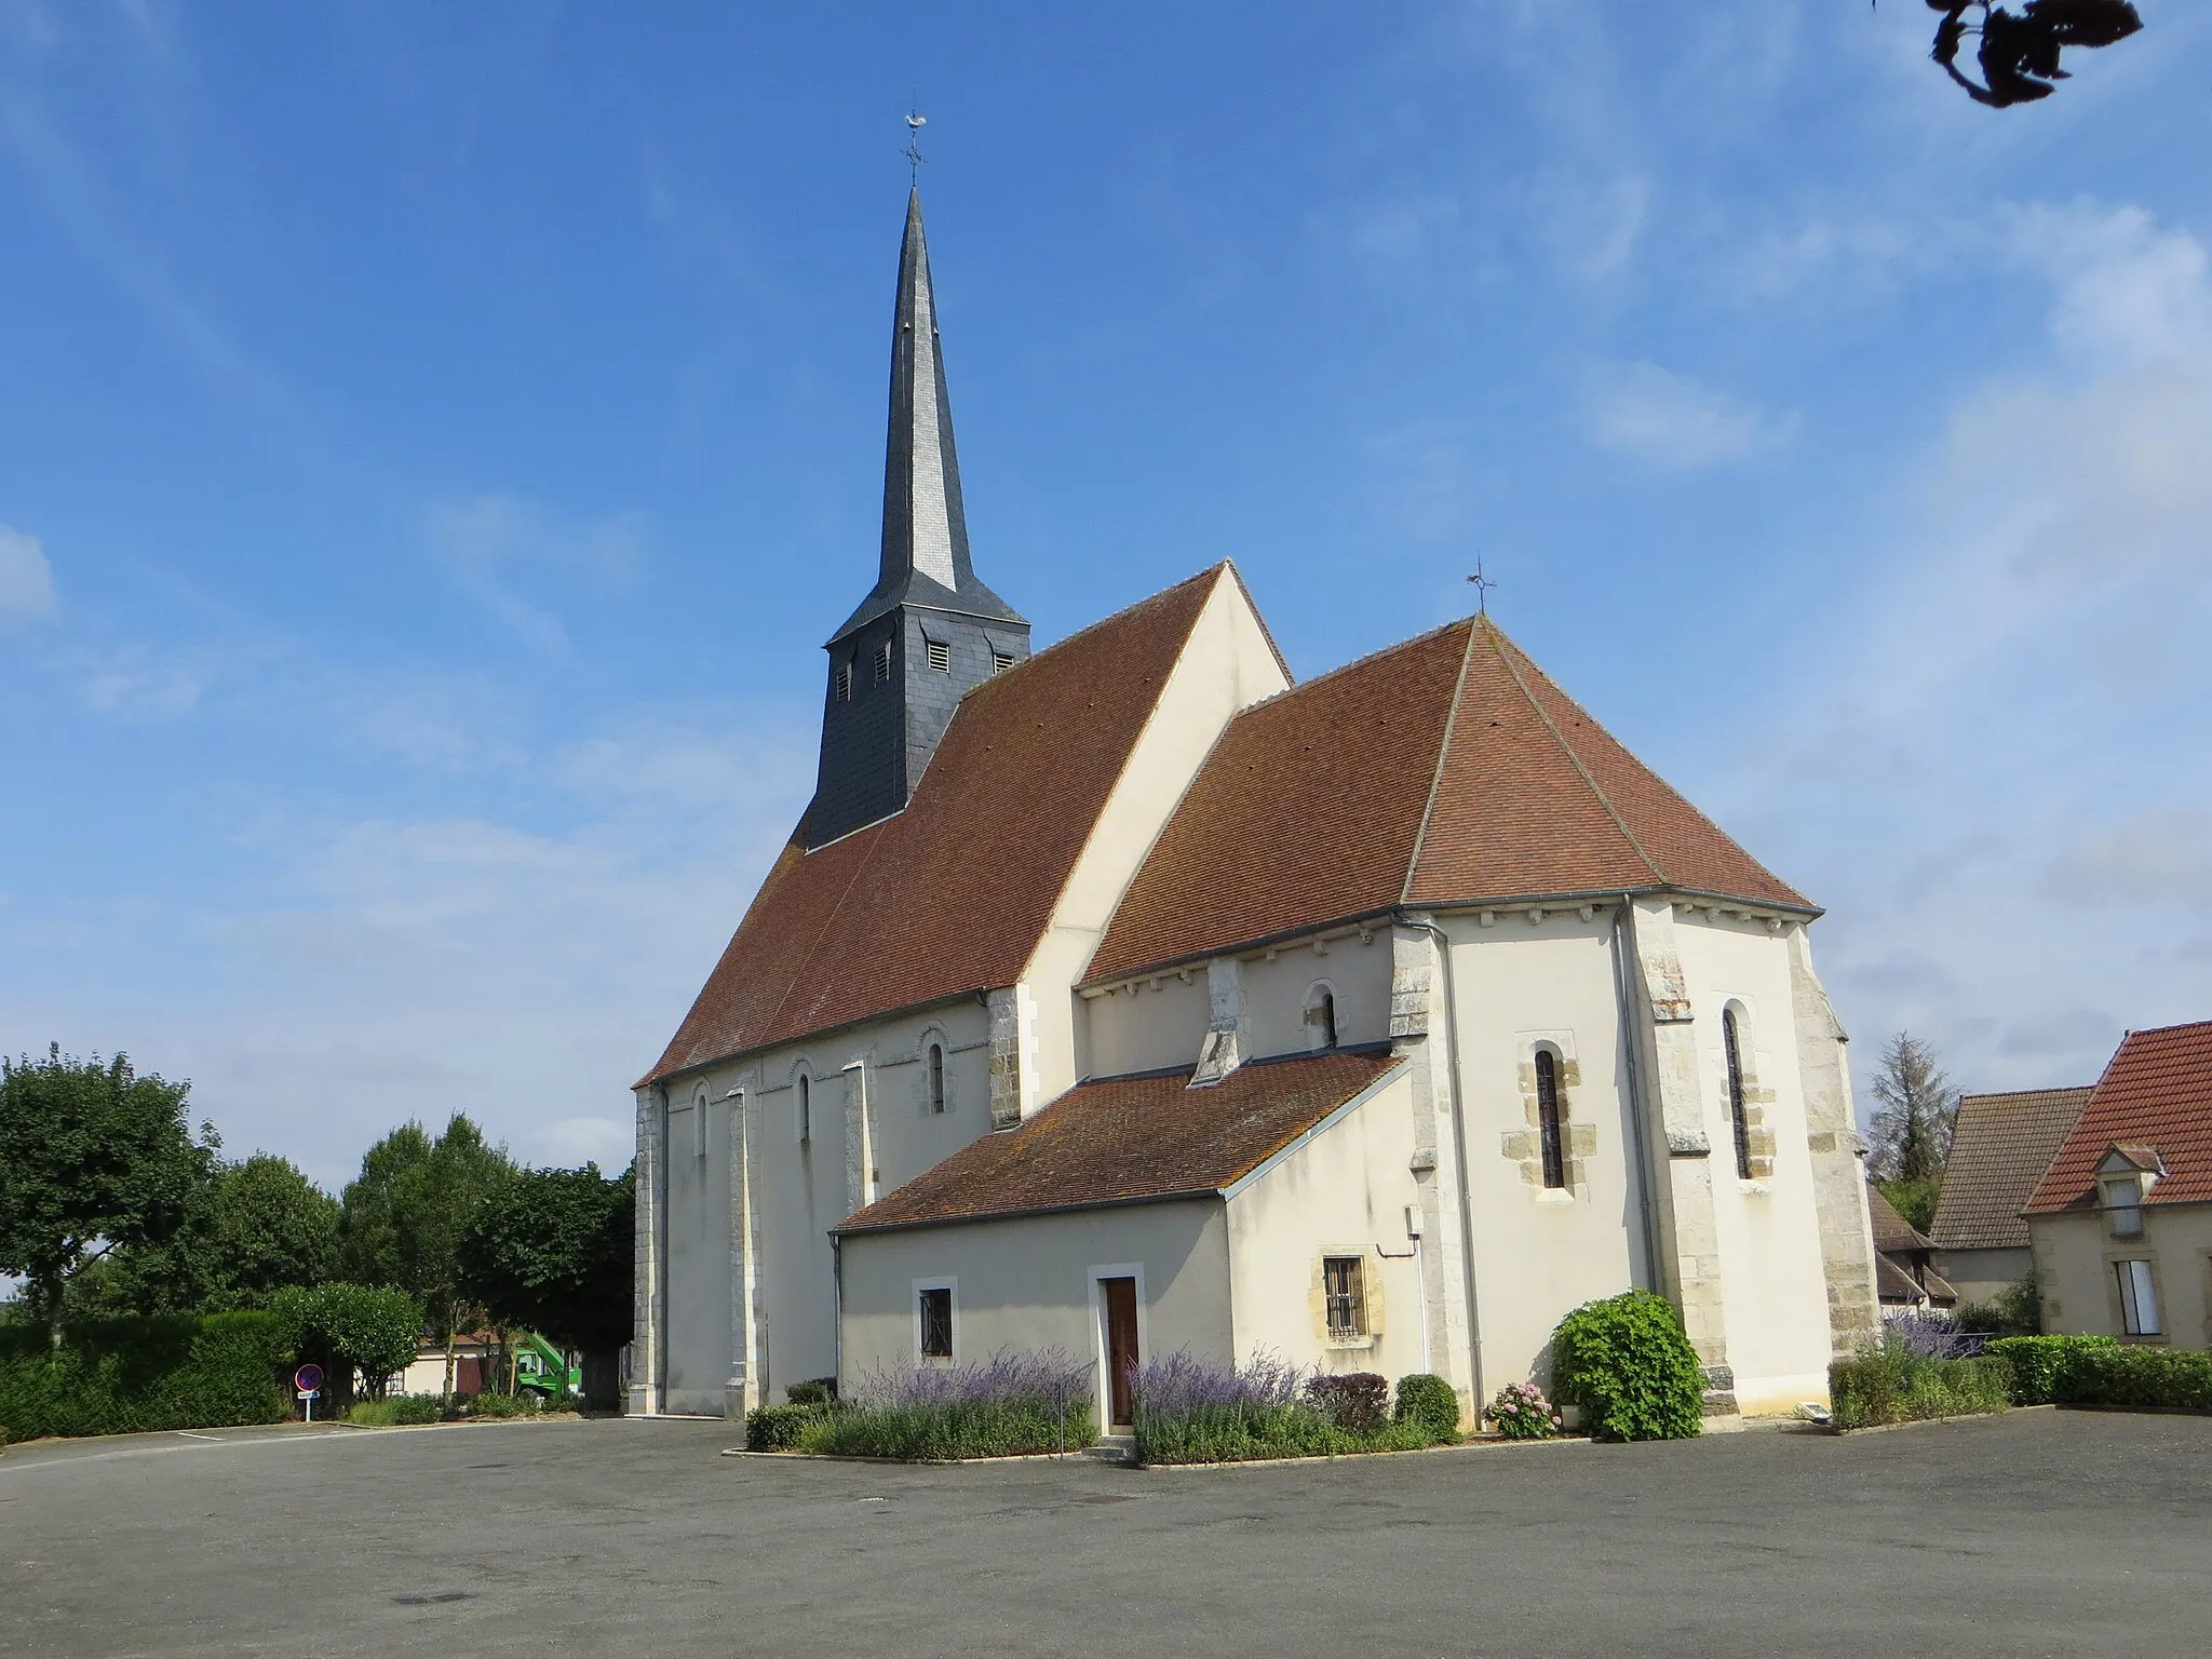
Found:
[[2128, 1033], [2026, 1219], [2046, 1332], [2212, 1347], [2212, 1020]]

